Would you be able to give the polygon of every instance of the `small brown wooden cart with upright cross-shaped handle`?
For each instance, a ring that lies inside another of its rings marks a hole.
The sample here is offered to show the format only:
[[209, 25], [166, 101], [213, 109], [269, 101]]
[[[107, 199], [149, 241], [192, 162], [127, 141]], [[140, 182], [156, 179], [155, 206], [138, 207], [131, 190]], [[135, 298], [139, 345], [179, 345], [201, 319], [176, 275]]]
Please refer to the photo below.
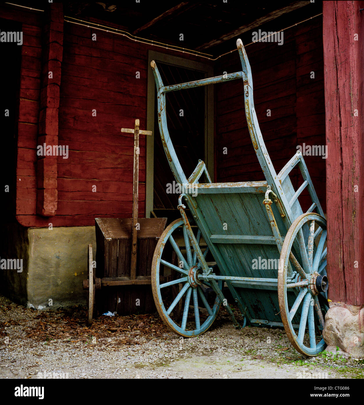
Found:
[[154, 312], [150, 268], [167, 219], [138, 218], [139, 134], [151, 135], [152, 132], [140, 130], [139, 119], [135, 119], [134, 129], [121, 128], [121, 132], [134, 134], [133, 213], [131, 218], [95, 218], [96, 261], [93, 261], [90, 244], [88, 274], [83, 280], [83, 288], [89, 293], [89, 325], [95, 312], [123, 315]]

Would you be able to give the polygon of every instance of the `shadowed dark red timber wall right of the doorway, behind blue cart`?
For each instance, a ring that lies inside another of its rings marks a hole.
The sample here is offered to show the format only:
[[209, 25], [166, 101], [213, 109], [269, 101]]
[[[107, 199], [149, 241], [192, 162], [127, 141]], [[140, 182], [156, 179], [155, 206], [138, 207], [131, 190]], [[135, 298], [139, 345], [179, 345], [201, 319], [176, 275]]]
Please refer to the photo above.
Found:
[[[253, 75], [254, 104], [260, 129], [278, 173], [296, 153], [296, 146], [325, 145], [322, 16], [284, 31], [284, 44], [254, 43], [246, 47]], [[215, 74], [241, 70], [236, 52], [218, 60]], [[310, 78], [314, 72], [314, 79]], [[243, 109], [243, 86], [237, 81], [216, 85], [217, 181], [263, 180]], [[267, 116], [267, 110], [271, 116]], [[227, 154], [223, 148], [227, 147]], [[324, 210], [325, 159], [305, 156]], [[302, 183], [292, 171], [295, 189]], [[306, 195], [306, 197], [305, 197]], [[311, 205], [305, 190], [304, 208]]]

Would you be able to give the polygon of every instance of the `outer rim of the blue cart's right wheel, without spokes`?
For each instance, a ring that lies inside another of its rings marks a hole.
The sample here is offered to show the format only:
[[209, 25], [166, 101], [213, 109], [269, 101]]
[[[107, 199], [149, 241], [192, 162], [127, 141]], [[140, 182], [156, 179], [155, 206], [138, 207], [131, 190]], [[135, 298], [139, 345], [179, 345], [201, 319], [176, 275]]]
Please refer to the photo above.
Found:
[[[316, 213], [306, 213], [302, 214], [296, 218], [296, 220], [290, 226], [286, 237], [284, 239], [284, 243], [281, 249], [281, 255], [279, 258], [279, 271], [278, 271], [278, 301], [279, 301], [279, 309], [282, 322], [284, 324], [284, 329], [290, 340], [293, 347], [305, 356], [316, 356], [318, 353], [322, 352], [326, 347], [326, 343], [322, 338], [319, 343], [316, 343], [316, 348], [307, 347], [297, 339], [296, 332], [292, 326], [292, 322], [289, 316], [289, 309], [288, 309], [288, 299], [287, 299], [287, 267], [288, 267], [288, 260], [289, 254], [291, 252], [291, 248], [296, 237], [298, 231], [302, 228], [302, 226], [310, 221], [314, 220], [317, 224], [320, 225], [322, 230], [326, 230], [326, 219], [319, 214]], [[283, 269], [281, 268], [283, 266]], [[305, 296], [302, 298], [301, 303], [303, 303]], [[301, 305], [301, 304], [300, 304]], [[313, 309], [315, 311], [315, 309]], [[301, 314], [302, 316], [302, 314]], [[323, 314], [324, 316], [324, 314]], [[306, 322], [307, 324], [307, 322]]]

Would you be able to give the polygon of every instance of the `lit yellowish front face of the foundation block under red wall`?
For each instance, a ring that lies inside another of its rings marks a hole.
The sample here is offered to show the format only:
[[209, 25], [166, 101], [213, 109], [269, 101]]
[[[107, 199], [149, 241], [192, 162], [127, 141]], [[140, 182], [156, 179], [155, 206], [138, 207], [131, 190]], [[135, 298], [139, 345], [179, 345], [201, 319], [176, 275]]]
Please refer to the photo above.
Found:
[[87, 245], [93, 244], [95, 255], [95, 227], [29, 229], [28, 238], [28, 306], [55, 309], [84, 305], [82, 282], [87, 279]]

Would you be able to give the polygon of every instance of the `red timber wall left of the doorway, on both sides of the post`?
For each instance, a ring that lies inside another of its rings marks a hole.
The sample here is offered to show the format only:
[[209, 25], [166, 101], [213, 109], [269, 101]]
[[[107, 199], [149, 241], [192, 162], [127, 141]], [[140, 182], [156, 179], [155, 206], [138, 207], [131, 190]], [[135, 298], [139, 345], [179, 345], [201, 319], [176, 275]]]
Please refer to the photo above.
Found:
[[[23, 226], [94, 225], [95, 217], [131, 217], [133, 135], [121, 128], [146, 128], [148, 49], [124, 36], [64, 23], [57, 157], [57, 212], [37, 212], [38, 121], [42, 70], [42, 13], [2, 6], [2, 17], [23, 23], [18, 125], [16, 216]], [[110, 25], [110, 24], [109, 24]], [[92, 34], [97, 40], [92, 40]], [[192, 55], [185, 58], [200, 60]], [[136, 73], [140, 72], [140, 78]], [[92, 116], [93, 110], [96, 116]], [[146, 150], [140, 137], [139, 212], [145, 213]], [[38, 179], [39, 180], [39, 179]], [[93, 186], [96, 192], [93, 192]]]

